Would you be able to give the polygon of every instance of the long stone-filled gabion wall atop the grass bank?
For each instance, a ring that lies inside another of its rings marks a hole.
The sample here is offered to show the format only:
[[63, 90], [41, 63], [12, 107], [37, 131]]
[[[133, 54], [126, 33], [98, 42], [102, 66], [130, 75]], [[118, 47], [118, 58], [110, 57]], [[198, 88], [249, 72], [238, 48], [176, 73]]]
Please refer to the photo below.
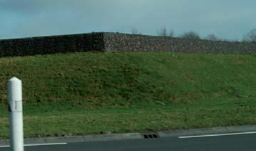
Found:
[[82, 33], [0, 41], [0, 57], [79, 51], [176, 51], [186, 53], [256, 53], [256, 43], [144, 36], [125, 33]]

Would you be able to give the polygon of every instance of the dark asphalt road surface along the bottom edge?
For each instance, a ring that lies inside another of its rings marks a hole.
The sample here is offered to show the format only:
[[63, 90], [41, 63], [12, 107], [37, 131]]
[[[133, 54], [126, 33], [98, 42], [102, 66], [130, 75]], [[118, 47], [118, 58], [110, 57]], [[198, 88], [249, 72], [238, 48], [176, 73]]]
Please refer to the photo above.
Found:
[[[10, 151], [1, 147], [1, 151]], [[66, 145], [39, 145], [25, 147], [25, 151], [255, 151], [256, 134], [215, 137], [161, 137], [154, 139], [118, 140], [106, 142], [74, 142]]]

